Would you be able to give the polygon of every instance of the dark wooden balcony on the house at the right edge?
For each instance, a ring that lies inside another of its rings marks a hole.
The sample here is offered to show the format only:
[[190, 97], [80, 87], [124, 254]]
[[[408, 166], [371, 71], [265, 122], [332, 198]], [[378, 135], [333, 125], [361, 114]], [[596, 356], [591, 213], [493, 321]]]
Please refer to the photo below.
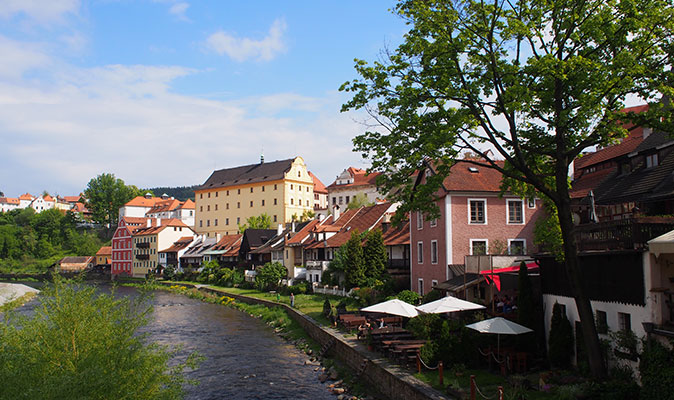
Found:
[[642, 250], [646, 243], [674, 230], [674, 217], [635, 217], [575, 229], [578, 251]]

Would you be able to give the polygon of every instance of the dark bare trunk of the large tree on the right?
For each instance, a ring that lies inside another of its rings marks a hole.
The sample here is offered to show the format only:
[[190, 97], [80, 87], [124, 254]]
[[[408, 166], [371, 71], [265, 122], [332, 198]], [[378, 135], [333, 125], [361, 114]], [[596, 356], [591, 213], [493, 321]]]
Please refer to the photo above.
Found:
[[[576, 308], [580, 317], [580, 326], [583, 340], [585, 341], [585, 348], [587, 349], [590, 370], [596, 379], [603, 379], [606, 377], [606, 366], [601, 352], [590, 298], [584, 285], [583, 271], [581, 271], [578, 262], [578, 249], [576, 247], [568, 195], [562, 196], [559, 204], [557, 204], [557, 211], [562, 231], [562, 241], [564, 243], [564, 264], [569, 282], [571, 283], [573, 297], [576, 300]], [[576, 340], [579, 340], [579, 338], [576, 338]]]

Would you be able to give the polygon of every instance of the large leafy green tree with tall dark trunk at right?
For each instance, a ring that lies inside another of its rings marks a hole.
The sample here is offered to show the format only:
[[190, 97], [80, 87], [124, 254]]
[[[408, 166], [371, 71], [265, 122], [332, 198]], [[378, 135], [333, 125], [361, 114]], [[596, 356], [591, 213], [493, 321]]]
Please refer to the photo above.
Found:
[[[570, 163], [591, 146], [626, 135], [616, 121], [671, 126], [670, 0], [404, 0], [410, 31], [394, 51], [342, 90], [343, 110], [365, 109], [376, 128], [354, 139], [399, 209], [437, 215], [432, 196], [470, 151], [499, 170], [505, 189], [527, 188], [558, 212], [563, 253], [592, 372], [606, 374], [590, 300], [582, 285], [571, 218]], [[626, 101], [651, 103], [624, 114]], [[497, 160], [505, 160], [498, 163]], [[437, 175], [413, 190], [410, 176], [433, 160]]]

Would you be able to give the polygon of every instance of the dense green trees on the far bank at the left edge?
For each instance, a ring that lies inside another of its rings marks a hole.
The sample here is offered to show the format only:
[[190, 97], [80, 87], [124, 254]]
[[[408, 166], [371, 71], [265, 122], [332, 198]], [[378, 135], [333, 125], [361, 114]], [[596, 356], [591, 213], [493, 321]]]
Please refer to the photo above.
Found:
[[44, 272], [64, 256], [96, 254], [103, 242], [92, 231], [78, 229], [75, 216], [32, 208], [0, 213], [0, 270]]

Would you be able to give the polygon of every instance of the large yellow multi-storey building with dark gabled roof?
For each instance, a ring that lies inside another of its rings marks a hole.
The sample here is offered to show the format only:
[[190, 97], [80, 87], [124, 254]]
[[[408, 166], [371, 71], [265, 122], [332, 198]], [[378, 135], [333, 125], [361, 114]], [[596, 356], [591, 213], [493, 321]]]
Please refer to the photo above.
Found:
[[314, 181], [302, 157], [214, 171], [194, 194], [195, 231], [207, 237], [235, 234], [263, 213], [276, 226], [314, 209]]

